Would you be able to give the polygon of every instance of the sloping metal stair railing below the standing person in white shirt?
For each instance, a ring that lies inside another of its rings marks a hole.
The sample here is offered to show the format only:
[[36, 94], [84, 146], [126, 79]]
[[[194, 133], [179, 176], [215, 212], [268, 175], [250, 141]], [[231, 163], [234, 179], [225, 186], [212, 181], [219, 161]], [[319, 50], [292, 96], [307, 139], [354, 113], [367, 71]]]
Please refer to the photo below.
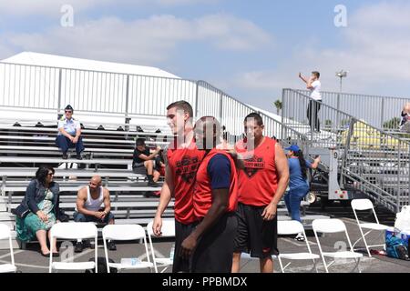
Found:
[[354, 182], [392, 211], [408, 205], [409, 143], [325, 104], [317, 114], [318, 128], [313, 104], [316, 102], [301, 91], [284, 89], [283, 124], [301, 131], [311, 146], [334, 147], [340, 152], [341, 184]]

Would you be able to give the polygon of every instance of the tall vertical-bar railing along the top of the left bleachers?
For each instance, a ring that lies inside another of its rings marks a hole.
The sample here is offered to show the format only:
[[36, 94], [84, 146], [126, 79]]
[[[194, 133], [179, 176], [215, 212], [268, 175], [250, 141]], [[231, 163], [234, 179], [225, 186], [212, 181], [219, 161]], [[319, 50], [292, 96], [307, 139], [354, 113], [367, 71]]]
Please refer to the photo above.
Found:
[[195, 81], [40, 65], [0, 63], [0, 106], [80, 112], [164, 115], [161, 106], [186, 100], [196, 106]]

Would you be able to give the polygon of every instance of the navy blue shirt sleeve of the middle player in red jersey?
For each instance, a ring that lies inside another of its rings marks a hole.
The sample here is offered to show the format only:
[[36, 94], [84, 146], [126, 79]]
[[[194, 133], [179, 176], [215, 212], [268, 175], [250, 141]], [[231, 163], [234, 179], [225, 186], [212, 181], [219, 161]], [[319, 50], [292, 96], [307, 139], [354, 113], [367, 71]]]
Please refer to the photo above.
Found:
[[212, 156], [207, 171], [212, 189], [231, 187], [231, 162], [227, 156], [220, 154]]

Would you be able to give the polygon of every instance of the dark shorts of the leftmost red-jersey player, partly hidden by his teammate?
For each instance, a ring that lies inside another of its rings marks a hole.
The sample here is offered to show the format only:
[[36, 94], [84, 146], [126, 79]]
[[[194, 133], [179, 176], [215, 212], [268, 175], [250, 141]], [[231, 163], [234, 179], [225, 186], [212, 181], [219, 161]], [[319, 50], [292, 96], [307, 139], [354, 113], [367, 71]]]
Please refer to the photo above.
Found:
[[185, 260], [179, 256], [180, 246], [185, 238], [190, 236], [192, 231], [195, 229], [196, 223], [189, 225], [181, 224], [179, 221], [175, 220], [175, 250], [174, 250], [174, 261], [172, 265], [172, 273], [189, 273], [190, 272], [190, 260]]

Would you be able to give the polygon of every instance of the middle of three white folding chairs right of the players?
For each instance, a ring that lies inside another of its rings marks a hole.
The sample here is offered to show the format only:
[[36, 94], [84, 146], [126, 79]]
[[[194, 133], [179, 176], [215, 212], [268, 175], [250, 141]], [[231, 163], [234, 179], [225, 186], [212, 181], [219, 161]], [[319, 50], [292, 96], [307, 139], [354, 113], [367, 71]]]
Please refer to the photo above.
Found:
[[[340, 219], [315, 219], [313, 220], [313, 233], [314, 236], [316, 237], [317, 241], [317, 246], [319, 246], [319, 251], [321, 253], [322, 259], [323, 259], [323, 265], [324, 269], [326, 270], [326, 273], [329, 273], [329, 267], [332, 266], [335, 262], [336, 259], [354, 259], [354, 262], [356, 265], [354, 266], [354, 269], [352, 272], [357, 268], [359, 273], [362, 273], [362, 270], [360, 269], [360, 258], [363, 257], [362, 254], [355, 253], [352, 243], [350, 241], [349, 234], [347, 233], [346, 226], [344, 225], [343, 221]], [[339, 251], [339, 252], [323, 252], [321, 242], [319, 240], [319, 237], [317, 233], [322, 233], [322, 234], [335, 234], [335, 233], [344, 233], [347, 242], [349, 243], [350, 246], [350, 251]], [[325, 256], [332, 257], [333, 261], [327, 265]]]

